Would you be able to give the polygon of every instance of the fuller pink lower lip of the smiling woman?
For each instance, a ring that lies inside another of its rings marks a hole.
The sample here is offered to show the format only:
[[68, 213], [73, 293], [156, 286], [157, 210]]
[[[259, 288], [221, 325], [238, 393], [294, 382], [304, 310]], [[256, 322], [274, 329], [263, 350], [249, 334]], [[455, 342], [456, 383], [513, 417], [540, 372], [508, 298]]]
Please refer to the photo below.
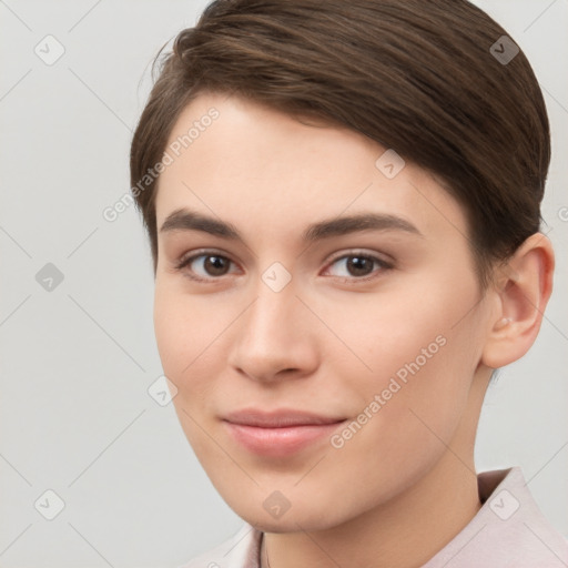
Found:
[[344, 422], [287, 426], [284, 428], [260, 428], [231, 422], [224, 424], [233, 438], [250, 452], [265, 456], [283, 457], [331, 436]]

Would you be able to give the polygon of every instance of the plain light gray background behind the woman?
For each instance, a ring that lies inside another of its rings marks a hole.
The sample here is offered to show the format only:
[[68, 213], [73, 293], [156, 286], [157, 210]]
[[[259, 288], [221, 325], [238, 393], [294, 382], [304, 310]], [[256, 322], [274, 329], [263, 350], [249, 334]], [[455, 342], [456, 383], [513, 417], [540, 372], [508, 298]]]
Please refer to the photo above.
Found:
[[[568, 0], [476, 3], [524, 49], [545, 93], [554, 158], [544, 217], [558, 262], [535, 347], [486, 397], [477, 468], [521, 466], [568, 534]], [[2, 567], [175, 567], [242, 524], [172, 405], [148, 393], [162, 369], [138, 212], [102, 216], [129, 191], [150, 63], [205, 6], [0, 1]], [[63, 277], [51, 291], [37, 280], [48, 263]], [[64, 501], [52, 520], [34, 506], [49, 489]]]

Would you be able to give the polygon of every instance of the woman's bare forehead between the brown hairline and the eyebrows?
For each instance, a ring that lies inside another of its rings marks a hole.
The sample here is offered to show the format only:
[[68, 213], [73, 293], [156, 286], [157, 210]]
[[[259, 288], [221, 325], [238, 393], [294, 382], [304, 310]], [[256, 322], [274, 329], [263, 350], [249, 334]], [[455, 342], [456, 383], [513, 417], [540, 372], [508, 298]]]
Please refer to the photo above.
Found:
[[[159, 227], [171, 212], [189, 207], [243, 231], [281, 236], [318, 219], [367, 211], [412, 220], [425, 234], [466, 232], [454, 197], [415, 164], [396, 173], [403, 163], [390, 149], [240, 98], [197, 97], [172, 129], [166, 152], [171, 163], [155, 201]], [[383, 156], [394, 168], [385, 170]]]

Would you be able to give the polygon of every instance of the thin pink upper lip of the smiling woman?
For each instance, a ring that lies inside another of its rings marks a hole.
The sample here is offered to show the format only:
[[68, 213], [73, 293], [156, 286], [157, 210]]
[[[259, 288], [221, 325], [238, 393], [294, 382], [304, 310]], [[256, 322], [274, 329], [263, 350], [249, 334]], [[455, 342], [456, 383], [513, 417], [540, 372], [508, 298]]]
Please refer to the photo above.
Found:
[[256, 426], [258, 428], [285, 428], [290, 426], [336, 424], [345, 418], [322, 416], [305, 410], [287, 408], [271, 412], [244, 408], [229, 413], [223, 419], [232, 424]]

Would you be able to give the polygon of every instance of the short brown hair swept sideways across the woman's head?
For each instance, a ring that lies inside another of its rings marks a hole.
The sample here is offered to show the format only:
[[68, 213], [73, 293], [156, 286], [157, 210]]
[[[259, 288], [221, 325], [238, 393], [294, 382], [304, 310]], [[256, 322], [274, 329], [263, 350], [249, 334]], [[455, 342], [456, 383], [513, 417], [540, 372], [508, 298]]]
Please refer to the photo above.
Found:
[[[485, 287], [491, 262], [539, 231], [550, 161], [538, 81], [504, 36], [466, 0], [213, 1], [162, 61], [132, 140], [131, 186], [161, 161], [181, 111], [202, 92], [324, 119], [444, 183], [467, 214]], [[506, 48], [510, 61], [498, 57]], [[154, 272], [158, 181], [134, 192]]]

